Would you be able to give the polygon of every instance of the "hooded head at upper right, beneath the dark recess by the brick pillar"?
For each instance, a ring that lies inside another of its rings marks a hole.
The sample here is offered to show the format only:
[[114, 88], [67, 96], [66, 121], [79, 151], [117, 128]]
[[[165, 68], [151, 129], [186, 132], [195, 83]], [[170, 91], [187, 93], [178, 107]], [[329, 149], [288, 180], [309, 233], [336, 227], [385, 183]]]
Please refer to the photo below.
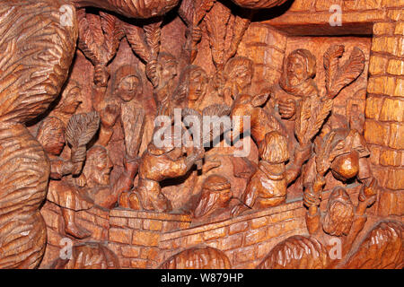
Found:
[[297, 86], [316, 74], [316, 58], [309, 50], [294, 50], [285, 60], [283, 77], [288, 86]]

